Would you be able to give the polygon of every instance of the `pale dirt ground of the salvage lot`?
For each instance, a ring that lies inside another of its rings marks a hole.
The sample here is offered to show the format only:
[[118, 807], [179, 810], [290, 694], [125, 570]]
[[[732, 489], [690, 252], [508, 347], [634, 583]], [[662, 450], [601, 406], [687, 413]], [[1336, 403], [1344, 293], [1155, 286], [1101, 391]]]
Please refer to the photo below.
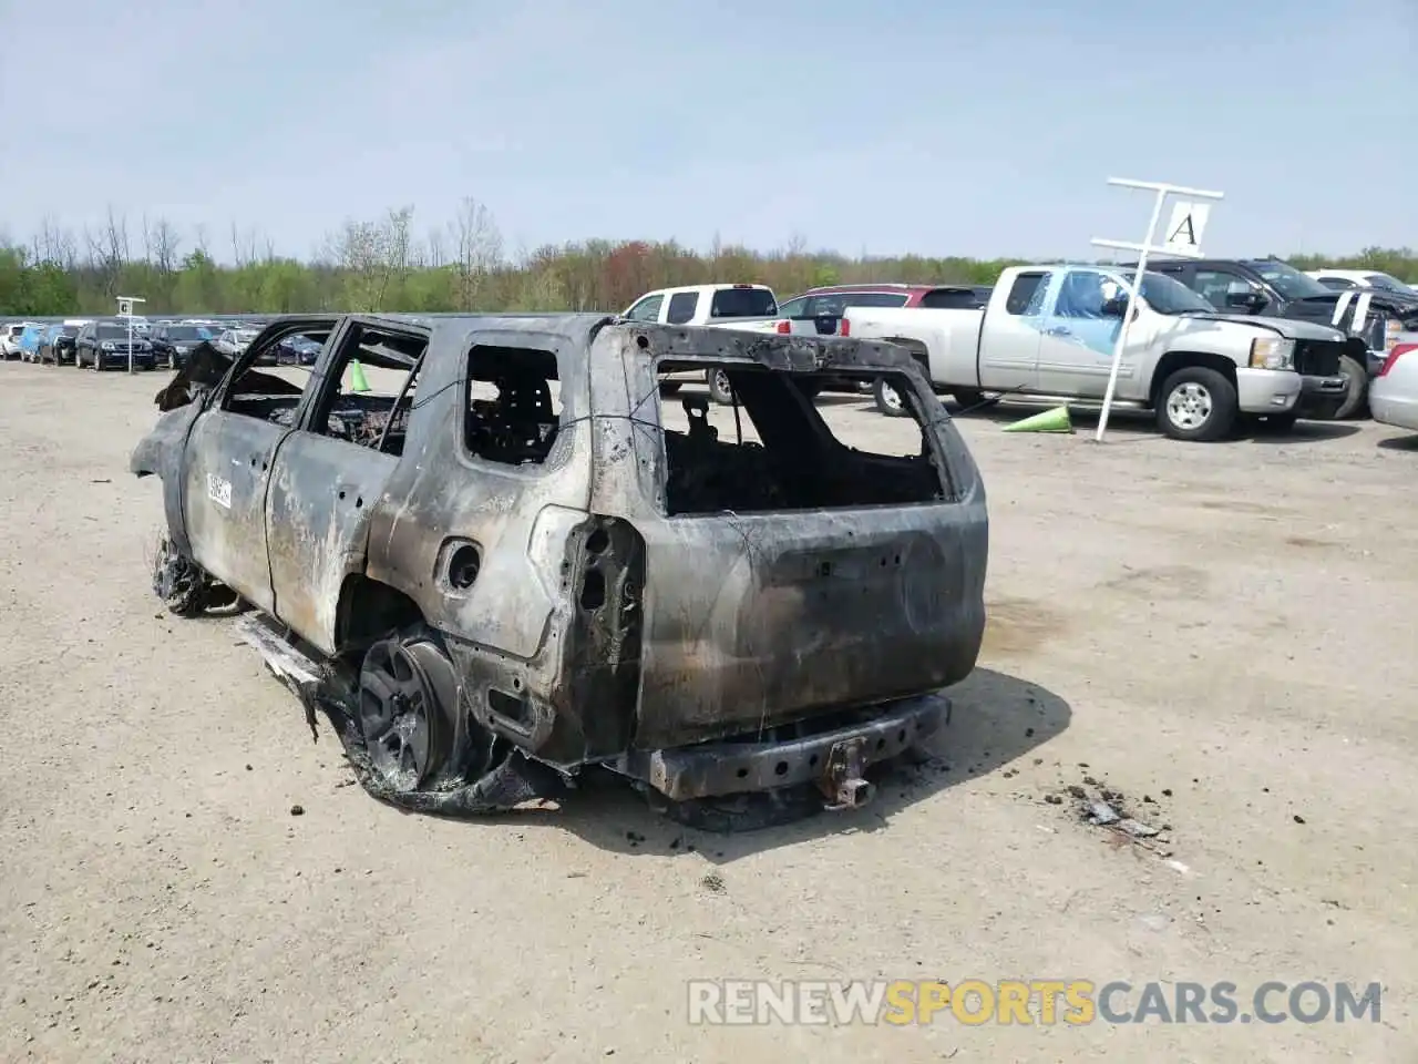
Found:
[[[1418, 1060], [1418, 437], [963, 419], [990, 627], [936, 760], [722, 837], [620, 786], [454, 823], [352, 785], [230, 620], [149, 590], [159, 488], [126, 462], [163, 379], [0, 366], [0, 1060]], [[864, 447], [906, 430], [822, 409]], [[1048, 800], [1085, 776], [1168, 826], [1160, 854]], [[688, 1021], [691, 979], [817, 977], [1384, 999], [1309, 1026]]]

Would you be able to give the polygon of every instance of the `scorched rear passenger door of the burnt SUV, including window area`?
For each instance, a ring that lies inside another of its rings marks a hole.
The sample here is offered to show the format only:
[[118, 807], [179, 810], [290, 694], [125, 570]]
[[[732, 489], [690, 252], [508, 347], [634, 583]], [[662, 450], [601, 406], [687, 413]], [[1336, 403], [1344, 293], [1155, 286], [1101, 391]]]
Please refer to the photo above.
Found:
[[[353, 424], [370, 404], [363, 389], [343, 387], [346, 370], [360, 358], [362, 345], [374, 343], [374, 338], [380, 346], [391, 346], [386, 338], [397, 338], [396, 342], [413, 350], [428, 343], [421, 329], [347, 319], [325, 343], [296, 428], [282, 444], [271, 470], [265, 512], [271, 613], [326, 654], [336, 651], [336, 616], [345, 579], [364, 572], [369, 521], [398, 465], [387, 436], [381, 441], [377, 436], [343, 434], [343, 426]], [[411, 375], [390, 376], [397, 377], [391, 389], [372, 390], [387, 399], [386, 403], [376, 400], [373, 409], [383, 407], [390, 416], [397, 401], [398, 411], [408, 411]], [[340, 434], [335, 434], [332, 421], [342, 427]], [[372, 431], [379, 430], [372, 427]]]

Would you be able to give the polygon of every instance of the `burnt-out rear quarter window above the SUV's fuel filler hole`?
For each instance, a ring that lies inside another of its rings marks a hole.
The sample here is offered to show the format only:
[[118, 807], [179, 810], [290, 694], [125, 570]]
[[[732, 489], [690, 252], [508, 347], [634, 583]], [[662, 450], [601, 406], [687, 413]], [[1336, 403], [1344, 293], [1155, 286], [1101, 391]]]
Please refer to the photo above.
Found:
[[468, 352], [464, 447], [498, 465], [540, 465], [562, 426], [556, 355], [474, 345]]

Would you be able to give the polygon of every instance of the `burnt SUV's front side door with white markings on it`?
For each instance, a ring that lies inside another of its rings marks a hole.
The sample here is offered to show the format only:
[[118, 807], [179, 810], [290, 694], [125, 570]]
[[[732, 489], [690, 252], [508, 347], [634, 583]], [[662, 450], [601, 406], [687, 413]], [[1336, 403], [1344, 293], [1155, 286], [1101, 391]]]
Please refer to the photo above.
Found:
[[[252, 345], [197, 416], [183, 457], [183, 523], [193, 560], [267, 613], [272, 607], [267, 558], [267, 488], [281, 444], [291, 434], [291, 394], [255, 393], [247, 372], [274, 345]], [[285, 424], [271, 420], [282, 417]]]

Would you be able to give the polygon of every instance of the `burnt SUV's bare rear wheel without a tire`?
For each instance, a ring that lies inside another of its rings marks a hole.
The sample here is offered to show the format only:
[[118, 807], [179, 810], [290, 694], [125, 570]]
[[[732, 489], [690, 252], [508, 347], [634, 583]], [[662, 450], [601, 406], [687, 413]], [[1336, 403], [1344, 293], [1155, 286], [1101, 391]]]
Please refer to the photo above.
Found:
[[418, 790], [448, 760], [458, 681], [423, 630], [372, 645], [360, 665], [359, 722], [370, 766], [397, 792]]

